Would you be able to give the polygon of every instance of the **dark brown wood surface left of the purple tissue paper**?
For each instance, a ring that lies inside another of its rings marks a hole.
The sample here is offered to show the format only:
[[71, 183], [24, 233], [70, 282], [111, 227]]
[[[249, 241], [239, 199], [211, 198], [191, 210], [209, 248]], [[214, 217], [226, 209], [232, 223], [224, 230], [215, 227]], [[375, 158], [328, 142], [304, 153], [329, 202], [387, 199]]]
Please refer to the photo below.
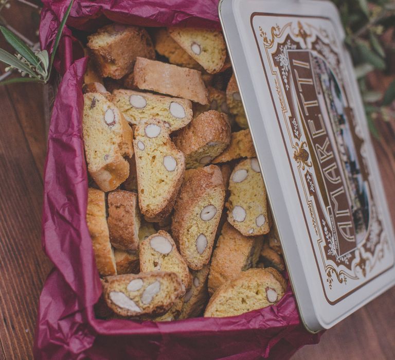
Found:
[[[30, 9], [13, 2], [2, 14], [29, 39], [37, 39]], [[0, 359], [29, 359], [38, 298], [51, 267], [41, 249], [42, 85], [0, 87], [0, 114]]]

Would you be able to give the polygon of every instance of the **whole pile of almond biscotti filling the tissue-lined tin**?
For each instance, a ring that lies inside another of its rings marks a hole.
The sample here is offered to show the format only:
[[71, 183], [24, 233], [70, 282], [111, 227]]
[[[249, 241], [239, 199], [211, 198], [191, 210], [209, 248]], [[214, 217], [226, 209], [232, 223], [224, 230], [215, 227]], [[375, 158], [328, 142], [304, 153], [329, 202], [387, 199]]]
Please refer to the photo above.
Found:
[[223, 317], [287, 283], [220, 31], [107, 25], [88, 37], [86, 221], [98, 317]]

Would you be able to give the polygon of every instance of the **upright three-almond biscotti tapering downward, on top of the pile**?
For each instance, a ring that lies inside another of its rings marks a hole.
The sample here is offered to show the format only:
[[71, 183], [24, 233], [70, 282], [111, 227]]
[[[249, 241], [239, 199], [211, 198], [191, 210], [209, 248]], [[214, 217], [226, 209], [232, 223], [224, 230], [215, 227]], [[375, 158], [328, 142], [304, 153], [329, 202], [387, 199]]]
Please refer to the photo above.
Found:
[[134, 140], [138, 201], [147, 221], [166, 218], [181, 187], [184, 154], [170, 140], [169, 129], [158, 119], [140, 122]]

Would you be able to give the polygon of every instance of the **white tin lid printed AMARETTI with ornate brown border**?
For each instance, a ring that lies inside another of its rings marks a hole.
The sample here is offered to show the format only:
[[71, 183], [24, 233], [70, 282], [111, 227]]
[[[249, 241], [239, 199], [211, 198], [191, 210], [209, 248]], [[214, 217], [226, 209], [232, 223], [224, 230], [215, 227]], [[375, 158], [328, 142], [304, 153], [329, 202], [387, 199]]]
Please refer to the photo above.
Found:
[[220, 18], [309, 331], [395, 284], [394, 234], [337, 9], [222, 0]]

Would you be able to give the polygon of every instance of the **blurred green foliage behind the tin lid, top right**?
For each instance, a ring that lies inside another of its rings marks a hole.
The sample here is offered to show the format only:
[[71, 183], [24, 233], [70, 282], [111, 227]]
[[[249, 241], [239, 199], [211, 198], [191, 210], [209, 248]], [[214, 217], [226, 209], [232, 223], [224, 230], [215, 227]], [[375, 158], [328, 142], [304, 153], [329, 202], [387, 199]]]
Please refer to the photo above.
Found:
[[395, 119], [395, 0], [334, 0], [346, 30], [372, 135]]

